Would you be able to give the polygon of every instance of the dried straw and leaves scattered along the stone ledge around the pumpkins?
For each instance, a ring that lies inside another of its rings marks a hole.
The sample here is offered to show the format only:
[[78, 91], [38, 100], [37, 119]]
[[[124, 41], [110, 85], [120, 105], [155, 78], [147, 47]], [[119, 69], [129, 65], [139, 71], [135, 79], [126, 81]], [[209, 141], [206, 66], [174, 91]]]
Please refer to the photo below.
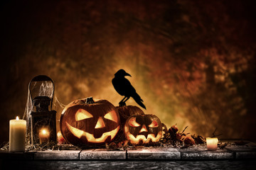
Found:
[[[127, 148], [140, 148], [140, 147], [176, 147], [180, 149], [188, 148], [192, 145], [206, 145], [206, 139], [200, 135], [190, 135], [190, 133], [185, 133], [185, 130], [188, 128], [184, 128], [182, 132], [178, 132], [177, 125], [171, 126], [171, 128], [167, 128], [166, 125], [163, 123], [163, 131], [164, 135], [159, 142], [151, 142], [149, 143], [142, 143], [139, 142], [139, 145], [134, 145], [130, 143], [124, 137], [123, 130], [119, 130], [114, 142], [106, 145], [84, 145], [82, 147], [76, 147], [74, 145], [59, 145], [57, 142], [48, 142], [46, 144], [40, 145], [26, 145], [26, 151], [29, 152], [37, 152], [37, 151], [44, 151], [44, 150], [78, 150], [78, 149], [99, 149], [99, 148], [107, 148], [111, 150], [125, 150]], [[213, 137], [219, 136], [215, 135], [215, 131], [213, 132]], [[237, 142], [220, 142], [218, 147], [220, 149], [224, 149], [227, 146], [241, 146], [247, 145], [249, 142], [245, 142], [243, 140]], [[4, 142], [1, 144], [1, 150], [9, 150], [9, 142]]]

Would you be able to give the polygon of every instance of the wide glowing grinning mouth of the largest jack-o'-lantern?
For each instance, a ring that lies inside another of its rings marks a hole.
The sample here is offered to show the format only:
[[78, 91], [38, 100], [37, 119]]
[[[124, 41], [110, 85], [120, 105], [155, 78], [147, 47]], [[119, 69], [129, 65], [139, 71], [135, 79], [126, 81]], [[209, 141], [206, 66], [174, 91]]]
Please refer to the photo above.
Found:
[[70, 130], [70, 132], [72, 132], [72, 134], [75, 135], [75, 137], [81, 138], [82, 136], [85, 136], [87, 138], [88, 142], [94, 142], [94, 143], [105, 142], [105, 140], [109, 136], [111, 136], [111, 140], [112, 140], [114, 138], [114, 136], [117, 135], [117, 132], [119, 130], [119, 126], [118, 126], [114, 130], [111, 130], [110, 132], [103, 133], [101, 137], [95, 138], [94, 135], [92, 135], [88, 132], [84, 132], [82, 130], [79, 130], [78, 128], [74, 128], [67, 122], [66, 122], [66, 124], [68, 126], [68, 130]]

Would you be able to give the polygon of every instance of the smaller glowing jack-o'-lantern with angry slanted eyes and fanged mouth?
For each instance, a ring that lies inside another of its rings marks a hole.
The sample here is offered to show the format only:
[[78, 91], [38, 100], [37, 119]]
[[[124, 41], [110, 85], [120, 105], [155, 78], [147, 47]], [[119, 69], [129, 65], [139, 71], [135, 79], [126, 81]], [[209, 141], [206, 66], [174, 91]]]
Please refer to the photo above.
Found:
[[158, 142], [162, 136], [161, 121], [156, 115], [132, 115], [124, 125], [124, 134], [136, 145]]

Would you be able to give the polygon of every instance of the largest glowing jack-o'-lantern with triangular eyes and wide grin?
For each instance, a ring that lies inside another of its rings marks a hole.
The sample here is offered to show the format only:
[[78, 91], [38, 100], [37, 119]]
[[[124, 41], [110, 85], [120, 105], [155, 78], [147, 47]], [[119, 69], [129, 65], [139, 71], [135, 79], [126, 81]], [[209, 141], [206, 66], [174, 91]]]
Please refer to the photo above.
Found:
[[80, 99], [68, 104], [60, 117], [60, 130], [73, 145], [102, 145], [119, 130], [119, 114], [106, 100]]

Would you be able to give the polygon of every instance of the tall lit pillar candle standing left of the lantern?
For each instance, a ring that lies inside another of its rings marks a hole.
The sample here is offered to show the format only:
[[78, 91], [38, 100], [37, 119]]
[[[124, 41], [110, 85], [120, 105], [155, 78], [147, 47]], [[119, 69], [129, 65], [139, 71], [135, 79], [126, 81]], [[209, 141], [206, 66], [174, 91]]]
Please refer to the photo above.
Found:
[[25, 152], [26, 120], [10, 120], [9, 152]]

